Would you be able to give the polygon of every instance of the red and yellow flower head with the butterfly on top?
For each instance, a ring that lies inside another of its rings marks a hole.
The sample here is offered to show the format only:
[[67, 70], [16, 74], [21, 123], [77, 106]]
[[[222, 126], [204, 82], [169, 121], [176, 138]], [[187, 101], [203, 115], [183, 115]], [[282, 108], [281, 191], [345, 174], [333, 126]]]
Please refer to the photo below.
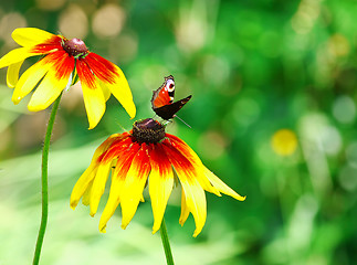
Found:
[[90, 167], [74, 186], [71, 208], [75, 209], [82, 198], [82, 203], [90, 205], [94, 216], [111, 171], [112, 184], [99, 221], [101, 232], [105, 232], [119, 204], [122, 227], [129, 224], [139, 202], [144, 201], [143, 190], [147, 182], [154, 214], [153, 233], [157, 232], [176, 176], [182, 187], [179, 223], [183, 225], [192, 213], [196, 223], [193, 236], [201, 232], [206, 222], [204, 190], [219, 197], [222, 192], [237, 200], [245, 200], [207, 169], [185, 141], [166, 134], [165, 126], [154, 119], [135, 123], [133, 130], [112, 135], [96, 149]]

